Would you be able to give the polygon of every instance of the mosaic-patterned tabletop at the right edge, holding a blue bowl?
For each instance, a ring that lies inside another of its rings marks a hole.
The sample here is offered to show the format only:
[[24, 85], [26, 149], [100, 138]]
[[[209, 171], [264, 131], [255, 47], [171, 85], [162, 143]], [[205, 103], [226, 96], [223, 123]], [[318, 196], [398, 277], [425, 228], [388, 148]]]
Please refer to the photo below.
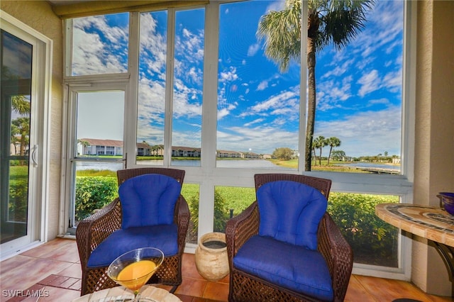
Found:
[[381, 203], [375, 214], [409, 233], [454, 247], [454, 216], [443, 208], [404, 203]]

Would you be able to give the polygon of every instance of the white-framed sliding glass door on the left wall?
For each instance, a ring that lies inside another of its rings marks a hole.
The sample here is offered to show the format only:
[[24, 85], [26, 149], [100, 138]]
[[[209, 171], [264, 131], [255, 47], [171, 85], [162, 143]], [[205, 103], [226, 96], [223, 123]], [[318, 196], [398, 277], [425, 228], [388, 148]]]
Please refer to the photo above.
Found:
[[50, 40], [6, 13], [0, 27], [0, 259], [6, 259], [45, 240]]

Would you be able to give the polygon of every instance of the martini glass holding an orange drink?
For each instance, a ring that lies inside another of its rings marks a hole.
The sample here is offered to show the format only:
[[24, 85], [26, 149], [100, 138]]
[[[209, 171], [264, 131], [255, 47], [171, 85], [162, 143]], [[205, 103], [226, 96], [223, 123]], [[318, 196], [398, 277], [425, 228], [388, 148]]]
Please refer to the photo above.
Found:
[[107, 275], [116, 283], [125, 286], [134, 293], [134, 299], [140, 301], [138, 293], [142, 286], [150, 280], [164, 260], [164, 253], [155, 247], [143, 247], [126, 252], [116, 258]]

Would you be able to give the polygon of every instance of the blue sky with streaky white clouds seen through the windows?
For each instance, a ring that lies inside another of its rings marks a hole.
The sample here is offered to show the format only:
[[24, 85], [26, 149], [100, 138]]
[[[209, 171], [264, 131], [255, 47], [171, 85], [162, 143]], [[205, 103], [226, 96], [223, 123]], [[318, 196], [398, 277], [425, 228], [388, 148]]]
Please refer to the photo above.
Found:
[[[271, 153], [277, 147], [297, 149], [299, 64], [294, 62], [288, 72], [280, 73], [255, 35], [260, 16], [282, 4], [221, 5], [217, 149], [257, 153]], [[367, 15], [366, 28], [352, 43], [341, 51], [328, 45], [317, 54], [314, 136], [336, 136], [341, 140], [336, 149], [347, 155], [400, 154], [402, 18], [403, 1], [377, 1]], [[74, 74], [126, 72], [127, 19], [121, 14], [74, 22], [78, 45]], [[166, 22], [165, 12], [142, 14], [138, 141], [150, 145], [163, 143]], [[200, 147], [204, 10], [178, 12], [175, 24], [172, 145]], [[89, 138], [91, 133], [81, 135]], [[113, 134], [104, 134], [121, 139], [109, 135]], [[326, 148], [323, 154], [327, 152]]]

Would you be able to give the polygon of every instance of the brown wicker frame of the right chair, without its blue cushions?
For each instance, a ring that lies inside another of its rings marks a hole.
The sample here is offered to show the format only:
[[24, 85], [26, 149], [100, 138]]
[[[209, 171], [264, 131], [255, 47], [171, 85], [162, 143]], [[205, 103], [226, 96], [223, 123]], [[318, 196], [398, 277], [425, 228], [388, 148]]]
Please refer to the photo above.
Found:
[[[331, 189], [331, 180], [329, 179], [295, 174], [256, 174], [255, 191], [257, 192], [260, 186], [270, 181], [297, 181], [318, 189], [326, 198], [328, 198]], [[323, 217], [315, 231], [317, 237], [316, 250], [321, 253], [327, 264], [328, 274], [331, 276], [333, 301], [343, 301], [353, 267], [353, 252], [331, 216], [327, 212], [324, 214], [322, 212], [321, 215]], [[250, 274], [250, 272], [244, 272], [233, 265], [233, 259], [240, 247], [251, 237], [258, 235], [259, 225], [258, 201], [251, 204], [243, 213], [228, 220], [226, 242], [228, 262], [231, 269], [228, 301], [319, 301], [319, 298], [278, 286]], [[299, 259], [298, 261], [302, 262], [303, 260]]]

